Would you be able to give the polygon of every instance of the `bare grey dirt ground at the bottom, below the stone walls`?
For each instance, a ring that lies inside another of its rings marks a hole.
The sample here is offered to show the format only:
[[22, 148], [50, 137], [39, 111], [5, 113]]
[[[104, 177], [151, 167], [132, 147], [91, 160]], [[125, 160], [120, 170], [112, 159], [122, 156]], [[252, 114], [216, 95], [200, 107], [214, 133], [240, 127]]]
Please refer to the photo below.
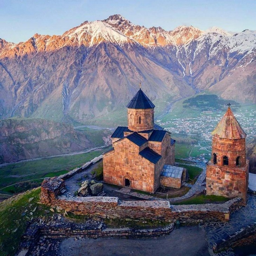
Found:
[[198, 226], [174, 229], [170, 235], [154, 238], [67, 238], [60, 245], [62, 256], [209, 256], [206, 232]]

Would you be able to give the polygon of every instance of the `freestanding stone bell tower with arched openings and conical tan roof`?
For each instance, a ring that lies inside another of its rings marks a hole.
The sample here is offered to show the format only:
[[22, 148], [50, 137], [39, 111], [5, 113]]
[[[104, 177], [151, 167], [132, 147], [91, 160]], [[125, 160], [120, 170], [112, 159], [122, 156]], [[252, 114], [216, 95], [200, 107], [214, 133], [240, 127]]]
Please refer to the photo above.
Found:
[[206, 193], [241, 197], [246, 204], [249, 179], [249, 160], [245, 157], [246, 133], [230, 107], [212, 135], [212, 158], [206, 167]]

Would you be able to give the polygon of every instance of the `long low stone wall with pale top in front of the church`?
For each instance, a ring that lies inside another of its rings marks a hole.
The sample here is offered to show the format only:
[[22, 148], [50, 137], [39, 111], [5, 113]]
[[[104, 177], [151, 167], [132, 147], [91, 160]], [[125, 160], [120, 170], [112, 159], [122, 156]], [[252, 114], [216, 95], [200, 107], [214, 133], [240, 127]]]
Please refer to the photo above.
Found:
[[[53, 188], [50, 187], [52, 184]], [[59, 186], [59, 188], [57, 188]], [[131, 218], [134, 220], [163, 220], [182, 223], [228, 221], [231, 211], [240, 207], [241, 198], [222, 204], [171, 206], [169, 201], [121, 201], [117, 197], [59, 196], [63, 180], [51, 178], [42, 183], [41, 201], [59, 206], [77, 215], [101, 218]]]

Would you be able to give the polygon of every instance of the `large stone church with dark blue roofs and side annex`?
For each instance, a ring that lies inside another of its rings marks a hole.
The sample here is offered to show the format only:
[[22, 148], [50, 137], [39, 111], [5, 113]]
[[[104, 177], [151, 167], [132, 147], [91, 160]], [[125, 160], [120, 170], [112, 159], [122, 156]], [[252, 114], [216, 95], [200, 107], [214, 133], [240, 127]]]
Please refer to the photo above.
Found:
[[187, 170], [173, 166], [175, 140], [154, 124], [155, 105], [139, 89], [127, 105], [128, 127], [112, 134], [113, 148], [103, 154], [103, 181], [154, 192], [160, 184], [180, 188]]

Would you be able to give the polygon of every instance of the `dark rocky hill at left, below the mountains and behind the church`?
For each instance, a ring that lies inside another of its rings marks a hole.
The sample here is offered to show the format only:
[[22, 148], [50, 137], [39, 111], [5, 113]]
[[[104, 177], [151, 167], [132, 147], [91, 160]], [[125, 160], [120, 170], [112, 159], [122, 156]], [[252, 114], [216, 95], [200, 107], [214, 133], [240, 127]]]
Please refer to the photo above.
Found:
[[93, 146], [85, 134], [66, 123], [44, 119], [0, 120], [0, 163], [66, 154]]

